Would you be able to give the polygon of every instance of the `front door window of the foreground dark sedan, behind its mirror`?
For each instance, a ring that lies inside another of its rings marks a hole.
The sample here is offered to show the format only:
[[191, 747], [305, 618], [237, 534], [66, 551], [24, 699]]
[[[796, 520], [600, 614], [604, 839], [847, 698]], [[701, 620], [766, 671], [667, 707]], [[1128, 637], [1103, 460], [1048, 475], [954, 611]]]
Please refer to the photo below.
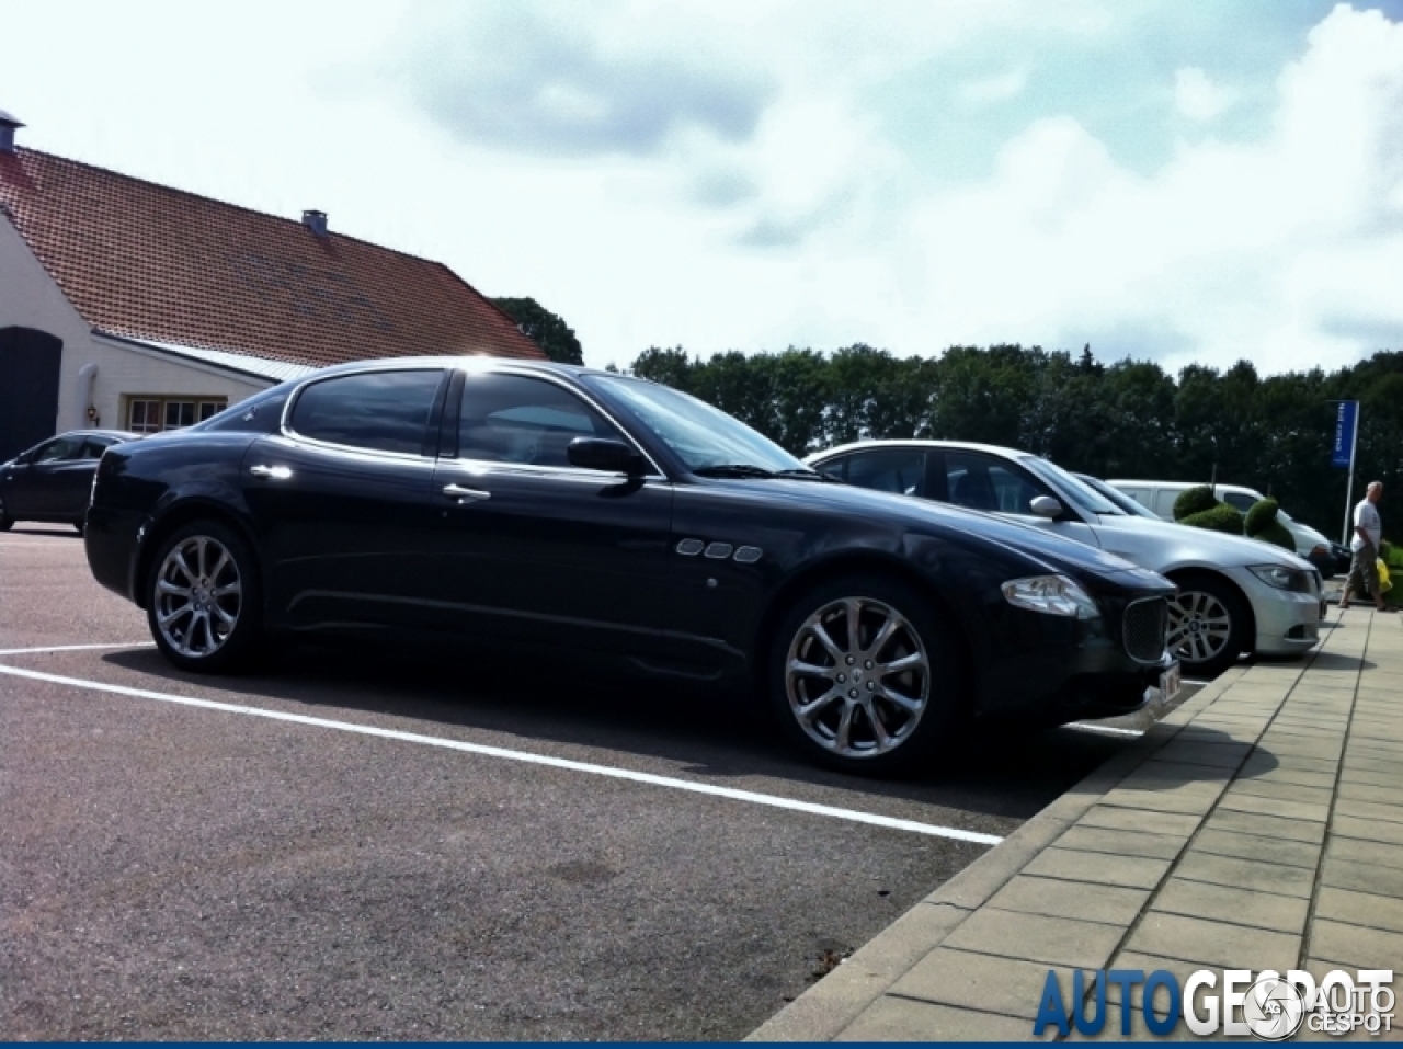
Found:
[[459, 410], [459, 459], [523, 466], [570, 466], [575, 438], [619, 439], [607, 419], [544, 379], [469, 374]]

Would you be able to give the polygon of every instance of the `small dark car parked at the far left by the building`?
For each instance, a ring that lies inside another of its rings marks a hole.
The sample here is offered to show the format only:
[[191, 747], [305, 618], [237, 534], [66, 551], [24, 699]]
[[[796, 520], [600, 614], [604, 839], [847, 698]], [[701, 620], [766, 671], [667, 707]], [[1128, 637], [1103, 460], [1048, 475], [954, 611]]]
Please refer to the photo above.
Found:
[[0, 464], [0, 532], [17, 520], [56, 522], [83, 532], [97, 461], [112, 445], [135, 439], [115, 429], [76, 429]]

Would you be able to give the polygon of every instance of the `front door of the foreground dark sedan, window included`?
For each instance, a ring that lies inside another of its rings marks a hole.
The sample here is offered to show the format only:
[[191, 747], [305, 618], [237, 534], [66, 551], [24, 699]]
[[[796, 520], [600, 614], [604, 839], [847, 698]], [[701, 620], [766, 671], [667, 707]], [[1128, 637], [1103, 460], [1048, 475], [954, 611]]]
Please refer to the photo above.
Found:
[[[655, 649], [672, 484], [572, 466], [575, 438], [637, 447], [551, 376], [467, 372], [434, 474], [438, 600], [463, 630], [610, 655]], [[641, 452], [641, 450], [640, 450]]]

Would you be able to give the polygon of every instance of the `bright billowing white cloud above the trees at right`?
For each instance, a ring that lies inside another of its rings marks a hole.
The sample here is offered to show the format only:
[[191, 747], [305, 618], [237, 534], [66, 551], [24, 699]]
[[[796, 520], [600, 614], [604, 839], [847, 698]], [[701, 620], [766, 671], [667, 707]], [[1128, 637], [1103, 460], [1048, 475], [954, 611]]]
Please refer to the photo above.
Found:
[[1150, 178], [1075, 121], [1028, 128], [993, 178], [920, 206], [930, 280], [892, 341], [1089, 339], [1264, 372], [1403, 346], [1403, 27], [1336, 8], [1278, 88], [1260, 143], [1184, 146]]

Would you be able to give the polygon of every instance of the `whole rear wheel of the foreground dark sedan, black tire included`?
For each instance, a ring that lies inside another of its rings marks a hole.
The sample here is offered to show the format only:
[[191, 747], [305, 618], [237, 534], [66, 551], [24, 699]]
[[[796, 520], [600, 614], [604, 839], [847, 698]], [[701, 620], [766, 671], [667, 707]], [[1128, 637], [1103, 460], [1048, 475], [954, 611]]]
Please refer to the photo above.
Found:
[[146, 579], [146, 621], [161, 655], [182, 670], [247, 666], [262, 635], [262, 589], [244, 539], [217, 520], [167, 536]]

